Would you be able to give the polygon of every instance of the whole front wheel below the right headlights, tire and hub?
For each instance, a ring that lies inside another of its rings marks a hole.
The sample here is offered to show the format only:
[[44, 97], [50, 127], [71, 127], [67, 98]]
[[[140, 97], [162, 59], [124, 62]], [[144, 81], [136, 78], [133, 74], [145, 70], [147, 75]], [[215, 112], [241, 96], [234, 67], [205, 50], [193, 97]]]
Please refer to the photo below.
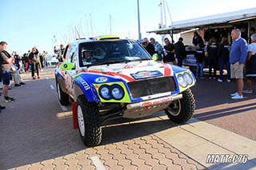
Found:
[[193, 117], [195, 109], [194, 95], [191, 89], [186, 89], [182, 92], [182, 96], [182, 99], [173, 101], [165, 109], [170, 121], [178, 124], [189, 121]]

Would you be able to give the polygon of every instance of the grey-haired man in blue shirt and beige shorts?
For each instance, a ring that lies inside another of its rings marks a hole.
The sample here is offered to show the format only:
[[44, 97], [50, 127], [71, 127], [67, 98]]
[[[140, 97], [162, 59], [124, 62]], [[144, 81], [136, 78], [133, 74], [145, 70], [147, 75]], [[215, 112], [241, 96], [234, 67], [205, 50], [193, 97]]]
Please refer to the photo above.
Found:
[[246, 40], [240, 37], [241, 31], [234, 29], [231, 32], [231, 38], [233, 40], [230, 49], [230, 70], [231, 78], [237, 79], [238, 92], [232, 93], [231, 99], [242, 99], [243, 89], [243, 65], [246, 61], [247, 43]]

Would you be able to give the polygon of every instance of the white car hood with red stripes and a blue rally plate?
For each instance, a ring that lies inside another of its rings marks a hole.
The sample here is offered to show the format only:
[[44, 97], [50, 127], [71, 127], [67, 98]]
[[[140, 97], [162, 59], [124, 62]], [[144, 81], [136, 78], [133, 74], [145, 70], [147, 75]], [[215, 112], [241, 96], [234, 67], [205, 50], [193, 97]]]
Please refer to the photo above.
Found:
[[134, 61], [90, 66], [86, 73], [103, 74], [108, 77], [121, 78], [127, 82], [150, 77], [169, 77], [174, 75], [174, 71], [169, 64], [156, 61]]

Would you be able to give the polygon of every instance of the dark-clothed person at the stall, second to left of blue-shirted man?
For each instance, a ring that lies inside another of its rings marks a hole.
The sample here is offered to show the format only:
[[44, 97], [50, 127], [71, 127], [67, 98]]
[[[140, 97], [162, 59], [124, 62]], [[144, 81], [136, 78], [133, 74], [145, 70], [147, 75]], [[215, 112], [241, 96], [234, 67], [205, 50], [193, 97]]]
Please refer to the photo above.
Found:
[[209, 62], [209, 79], [212, 78], [212, 69], [214, 69], [214, 79], [216, 79], [218, 65], [218, 43], [215, 38], [211, 38], [207, 45], [208, 62]]

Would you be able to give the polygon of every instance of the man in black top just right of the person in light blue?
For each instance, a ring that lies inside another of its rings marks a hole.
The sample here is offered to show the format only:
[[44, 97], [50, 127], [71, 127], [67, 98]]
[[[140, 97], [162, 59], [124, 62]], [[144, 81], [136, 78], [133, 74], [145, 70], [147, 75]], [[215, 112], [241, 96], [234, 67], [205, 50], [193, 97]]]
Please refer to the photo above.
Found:
[[167, 62], [167, 63], [170, 63], [170, 64], [174, 64], [174, 61], [175, 61], [175, 57], [174, 57], [174, 53], [175, 53], [175, 48], [174, 48], [174, 45], [170, 43], [169, 39], [168, 38], [165, 38], [164, 39], [164, 42], [166, 45], [164, 45], [164, 49], [165, 49], [165, 54], [164, 54], [164, 57], [163, 57], [163, 62]]

